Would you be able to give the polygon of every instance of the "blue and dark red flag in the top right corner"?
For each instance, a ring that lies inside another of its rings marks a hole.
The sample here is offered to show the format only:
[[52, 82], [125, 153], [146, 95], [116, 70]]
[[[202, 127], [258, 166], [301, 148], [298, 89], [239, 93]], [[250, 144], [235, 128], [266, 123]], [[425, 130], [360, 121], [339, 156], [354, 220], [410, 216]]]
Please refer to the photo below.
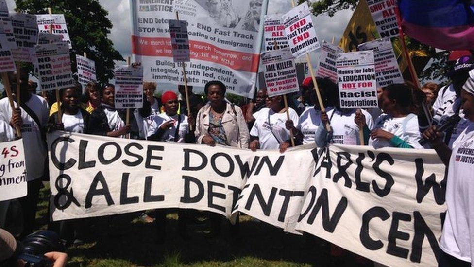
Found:
[[404, 32], [427, 45], [474, 48], [473, 0], [398, 0]]

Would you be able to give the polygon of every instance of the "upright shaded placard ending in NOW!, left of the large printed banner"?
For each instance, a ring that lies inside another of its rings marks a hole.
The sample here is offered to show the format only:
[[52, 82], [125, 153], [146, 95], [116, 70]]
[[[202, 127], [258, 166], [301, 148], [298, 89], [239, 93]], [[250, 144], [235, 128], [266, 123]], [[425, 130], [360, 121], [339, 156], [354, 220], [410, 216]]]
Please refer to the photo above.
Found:
[[143, 66], [115, 66], [115, 108], [143, 107]]

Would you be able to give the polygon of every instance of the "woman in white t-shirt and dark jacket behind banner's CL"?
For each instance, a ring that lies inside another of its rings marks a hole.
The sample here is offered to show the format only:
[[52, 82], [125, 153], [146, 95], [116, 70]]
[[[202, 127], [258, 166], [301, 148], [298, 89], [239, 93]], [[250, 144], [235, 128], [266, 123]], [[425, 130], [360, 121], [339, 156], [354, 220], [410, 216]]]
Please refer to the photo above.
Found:
[[81, 85], [77, 84], [71, 88], [59, 90], [61, 99], [61, 122], [58, 120], [58, 112], [51, 114], [48, 121], [48, 131], [61, 130], [73, 133], [88, 133], [89, 112], [83, 109], [79, 103]]

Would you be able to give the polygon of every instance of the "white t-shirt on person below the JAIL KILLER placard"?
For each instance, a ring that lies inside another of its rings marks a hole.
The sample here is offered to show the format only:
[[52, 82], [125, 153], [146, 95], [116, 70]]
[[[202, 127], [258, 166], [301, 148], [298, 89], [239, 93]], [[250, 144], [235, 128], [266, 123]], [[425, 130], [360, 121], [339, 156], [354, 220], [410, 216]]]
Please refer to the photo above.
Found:
[[[293, 124], [298, 125], [298, 113], [292, 108], [289, 108], [288, 112]], [[262, 108], [255, 118], [255, 124], [250, 130], [250, 135], [258, 137], [260, 149], [278, 149], [280, 143], [290, 139], [290, 132], [285, 127], [286, 122], [286, 112], [275, 113], [270, 108]]]

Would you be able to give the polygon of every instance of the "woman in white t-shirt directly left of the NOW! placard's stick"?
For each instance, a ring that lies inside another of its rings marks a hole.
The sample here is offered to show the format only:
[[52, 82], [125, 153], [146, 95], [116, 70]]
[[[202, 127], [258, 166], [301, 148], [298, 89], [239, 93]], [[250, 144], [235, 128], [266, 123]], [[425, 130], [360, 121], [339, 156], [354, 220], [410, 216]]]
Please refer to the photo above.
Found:
[[90, 115], [89, 132], [110, 137], [124, 137], [130, 133], [130, 125], [125, 125], [117, 109], [115, 109], [115, 86], [105, 85], [101, 92], [102, 104]]

